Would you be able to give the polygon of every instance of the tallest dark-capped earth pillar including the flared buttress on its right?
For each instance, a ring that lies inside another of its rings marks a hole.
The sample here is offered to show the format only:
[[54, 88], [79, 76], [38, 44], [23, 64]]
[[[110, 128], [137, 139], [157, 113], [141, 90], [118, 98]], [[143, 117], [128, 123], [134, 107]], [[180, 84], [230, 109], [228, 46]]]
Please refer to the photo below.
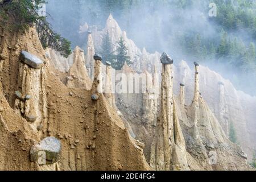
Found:
[[[156, 170], [188, 169], [185, 140], [180, 129], [173, 95], [173, 60], [167, 53], [161, 56], [162, 84], [160, 112], [155, 138], [151, 146], [150, 165]], [[184, 160], [180, 160], [184, 158]]]

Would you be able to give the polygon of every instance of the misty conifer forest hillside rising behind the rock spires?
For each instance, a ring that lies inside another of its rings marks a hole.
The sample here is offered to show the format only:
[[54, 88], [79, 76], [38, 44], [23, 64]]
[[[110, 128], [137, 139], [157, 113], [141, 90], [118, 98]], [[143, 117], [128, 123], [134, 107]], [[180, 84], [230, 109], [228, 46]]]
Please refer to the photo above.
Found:
[[[212, 2], [217, 16], [208, 14]], [[54, 30], [72, 40], [72, 47], [86, 42], [80, 26], [87, 22], [102, 29], [112, 13], [140, 48], [167, 51], [175, 62], [208, 65], [255, 95], [255, 0], [48, 0], [47, 12]]]

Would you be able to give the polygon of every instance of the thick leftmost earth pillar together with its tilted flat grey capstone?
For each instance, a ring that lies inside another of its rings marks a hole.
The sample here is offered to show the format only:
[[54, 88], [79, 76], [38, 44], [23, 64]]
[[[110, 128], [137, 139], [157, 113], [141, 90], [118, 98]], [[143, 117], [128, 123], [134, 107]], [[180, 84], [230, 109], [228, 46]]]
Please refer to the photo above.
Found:
[[27, 51], [20, 53], [15, 111], [30, 122], [35, 131], [47, 115], [44, 74], [43, 60]]

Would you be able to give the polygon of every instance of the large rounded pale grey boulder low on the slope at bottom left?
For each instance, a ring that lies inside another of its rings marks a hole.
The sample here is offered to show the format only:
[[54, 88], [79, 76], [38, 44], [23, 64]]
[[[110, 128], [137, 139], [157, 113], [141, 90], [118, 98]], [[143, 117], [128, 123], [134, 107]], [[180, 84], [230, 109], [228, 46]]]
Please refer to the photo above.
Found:
[[55, 137], [47, 137], [30, 149], [31, 162], [39, 165], [56, 163], [60, 158], [61, 143]]

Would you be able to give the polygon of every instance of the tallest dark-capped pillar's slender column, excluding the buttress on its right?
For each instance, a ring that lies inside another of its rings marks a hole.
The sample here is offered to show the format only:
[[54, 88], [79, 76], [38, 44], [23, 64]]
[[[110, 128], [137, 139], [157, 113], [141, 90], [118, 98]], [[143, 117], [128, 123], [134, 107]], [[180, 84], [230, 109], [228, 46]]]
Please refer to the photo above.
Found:
[[[173, 92], [172, 63], [167, 53], [160, 59], [162, 63], [162, 84], [160, 94], [160, 115], [157, 123], [156, 138], [151, 147], [151, 167], [156, 170], [170, 170], [173, 135]], [[161, 148], [161, 150], [159, 150]]]

